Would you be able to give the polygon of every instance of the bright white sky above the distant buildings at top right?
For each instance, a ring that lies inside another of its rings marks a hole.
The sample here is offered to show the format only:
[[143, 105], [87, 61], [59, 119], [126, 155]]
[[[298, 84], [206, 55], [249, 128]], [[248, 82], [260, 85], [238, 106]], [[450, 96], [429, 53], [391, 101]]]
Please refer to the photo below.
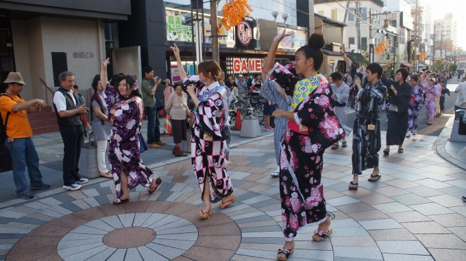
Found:
[[[408, 2], [414, 0], [407, 0]], [[463, 51], [466, 51], [466, 33], [464, 25], [466, 25], [466, 1], [465, 0], [419, 0], [419, 4], [432, 6], [432, 17], [442, 19], [447, 13], [453, 13], [453, 20], [456, 20], [456, 45], [461, 46]], [[432, 20], [432, 23], [433, 23]], [[462, 32], [462, 33], [461, 33]]]

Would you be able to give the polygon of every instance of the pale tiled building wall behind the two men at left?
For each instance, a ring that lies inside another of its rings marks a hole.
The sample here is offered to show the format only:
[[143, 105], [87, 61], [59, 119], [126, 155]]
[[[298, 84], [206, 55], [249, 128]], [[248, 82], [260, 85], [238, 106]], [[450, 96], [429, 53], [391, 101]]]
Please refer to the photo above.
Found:
[[[39, 79], [49, 87], [54, 86], [52, 52], [66, 53], [68, 70], [75, 74], [79, 90], [86, 92], [100, 71], [102, 33], [97, 20], [47, 16], [12, 20], [16, 70], [27, 83], [23, 97], [26, 100], [42, 98], [51, 104], [51, 93]], [[86, 55], [79, 57], [79, 53]]]

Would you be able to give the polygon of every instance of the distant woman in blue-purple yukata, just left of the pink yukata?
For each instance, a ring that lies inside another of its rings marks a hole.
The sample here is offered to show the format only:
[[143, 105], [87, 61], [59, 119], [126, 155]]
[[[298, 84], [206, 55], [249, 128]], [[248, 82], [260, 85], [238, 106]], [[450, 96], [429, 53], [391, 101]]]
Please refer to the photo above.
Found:
[[406, 137], [411, 137], [411, 134], [417, 134], [417, 123], [419, 122], [419, 111], [424, 105], [424, 92], [419, 85], [419, 77], [413, 75], [410, 77], [409, 84], [411, 85], [411, 98], [408, 107], [408, 132]]

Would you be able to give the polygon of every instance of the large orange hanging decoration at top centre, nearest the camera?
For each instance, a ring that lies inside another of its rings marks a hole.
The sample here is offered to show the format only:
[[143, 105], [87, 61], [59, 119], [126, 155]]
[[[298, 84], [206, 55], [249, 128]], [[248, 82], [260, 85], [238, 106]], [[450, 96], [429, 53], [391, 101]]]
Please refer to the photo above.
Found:
[[223, 19], [219, 28], [223, 24], [227, 30], [230, 30], [230, 28], [239, 25], [246, 16], [249, 16], [252, 8], [247, 4], [247, 0], [226, 0], [221, 12], [223, 12]]

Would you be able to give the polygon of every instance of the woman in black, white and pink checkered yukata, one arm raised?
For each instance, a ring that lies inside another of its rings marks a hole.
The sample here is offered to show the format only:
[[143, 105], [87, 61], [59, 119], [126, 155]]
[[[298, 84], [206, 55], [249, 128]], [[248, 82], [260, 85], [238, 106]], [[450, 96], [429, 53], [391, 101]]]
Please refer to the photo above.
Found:
[[221, 200], [220, 208], [236, 201], [232, 181], [227, 172], [225, 159], [225, 124], [230, 113], [230, 99], [225, 85], [218, 82], [221, 68], [217, 61], [202, 61], [199, 75], [187, 77], [180, 59], [180, 49], [171, 47], [177, 61], [180, 77], [187, 85], [188, 94], [195, 105], [191, 128], [191, 162], [197, 176], [204, 208], [199, 218], [210, 217], [211, 203]]

